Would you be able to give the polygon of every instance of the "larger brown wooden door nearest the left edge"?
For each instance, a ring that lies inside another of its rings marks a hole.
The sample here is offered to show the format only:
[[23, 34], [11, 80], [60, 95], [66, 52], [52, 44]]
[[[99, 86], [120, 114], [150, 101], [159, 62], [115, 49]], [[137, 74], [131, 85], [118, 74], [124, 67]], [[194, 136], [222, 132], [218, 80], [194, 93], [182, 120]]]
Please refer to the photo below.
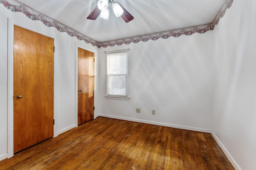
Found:
[[53, 137], [53, 53], [54, 39], [14, 25], [14, 153]]

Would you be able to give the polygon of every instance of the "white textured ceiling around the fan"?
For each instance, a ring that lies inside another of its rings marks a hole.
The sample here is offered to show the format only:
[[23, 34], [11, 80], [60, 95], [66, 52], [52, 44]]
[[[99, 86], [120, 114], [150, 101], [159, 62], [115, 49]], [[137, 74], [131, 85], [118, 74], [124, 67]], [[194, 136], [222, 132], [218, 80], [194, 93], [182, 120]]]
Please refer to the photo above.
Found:
[[116, 0], [134, 20], [126, 23], [110, 8], [109, 20], [87, 16], [98, 0], [17, 0], [18, 2], [98, 41], [212, 23], [225, 0]]

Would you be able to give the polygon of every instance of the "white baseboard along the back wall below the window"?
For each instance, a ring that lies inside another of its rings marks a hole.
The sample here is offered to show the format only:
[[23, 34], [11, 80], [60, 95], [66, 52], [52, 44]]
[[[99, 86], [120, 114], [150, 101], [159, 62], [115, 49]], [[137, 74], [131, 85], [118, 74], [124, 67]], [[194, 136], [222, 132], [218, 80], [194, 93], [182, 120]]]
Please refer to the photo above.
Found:
[[186, 129], [186, 130], [190, 130], [190, 131], [211, 133], [210, 129], [203, 129], [203, 128], [197, 128], [197, 127], [189, 127], [189, 126], [175, 125], [175, 124], [170, 124], [170, 123], [161, 123], [161, 122], [156, 122], [156, 121], [147, 121], [147, 120], [134, 119], [134, 118], [128, 118], [128, 117], [121, 117], [121, 116], [113, 116], [113, 115], [105, 115], [105, 114], [98, 114], [97, 117], [98, 116], [108, 117], [108, 118], [113, 118], [113, 119], [127, 120], [127, 121], [135, 121], [135, 122], [140, 122], [140, 123], [148, 123], [148, 124], [152, 124], [152, 125], [174, 127], [174, 128]]

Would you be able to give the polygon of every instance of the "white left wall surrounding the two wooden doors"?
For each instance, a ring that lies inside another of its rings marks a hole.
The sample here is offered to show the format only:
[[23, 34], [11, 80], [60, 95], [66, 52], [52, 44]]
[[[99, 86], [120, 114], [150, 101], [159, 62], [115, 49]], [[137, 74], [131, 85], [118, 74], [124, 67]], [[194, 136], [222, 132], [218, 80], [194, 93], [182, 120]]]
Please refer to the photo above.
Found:
[[[54, 27], [47, 27], [40, 21], [32, 21], [22, 13], [12, 12], [0, 4], [0, 160], [7, 157], [7, 71], [8, 71], [8, 18], [18, 21], [40, 33], [54, 35], [55, 53], [57, 63], [54, 63], [57, 78], [54, 83], [57, 85], [54, 94], [57, 104], [54, 104], [56, 111], [57, 134], [62, 133], [77, 124], [76, 121], [76, 46], [84, 47], [94, 51], [95, 57], [98, 55], [98, 48], [84, 41], [79, 41], [75, 37], [70, 37], [67, 33], [60, 33]], [[96, 60], [97, 61], [97, 60]], [[96, 78], [97, 80], [97, 78]], [[97, 91], [97, 90], [96, 90]], [[95, 96], [96, 106], [97, 94]], [[57, 108], [56, 108], [57, 107]]]

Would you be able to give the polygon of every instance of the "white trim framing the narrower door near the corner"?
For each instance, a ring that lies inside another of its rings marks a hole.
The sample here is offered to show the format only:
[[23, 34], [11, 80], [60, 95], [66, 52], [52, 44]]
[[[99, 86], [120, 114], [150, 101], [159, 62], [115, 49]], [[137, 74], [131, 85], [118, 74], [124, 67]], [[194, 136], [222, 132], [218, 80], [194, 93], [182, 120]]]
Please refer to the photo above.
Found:
[[[95, 106], [95, 92], [96, 92], [96, 69], [97, 69], [97, 64], [96, 64], [96, 53], [97, 51], [88, 47], [85, 47], [83, 45], [80, 45], [78, 43], [76, 43], [76, 66], [75, 66], [75, 72], [76, 72], [76, 82], [75, 82], [75, 99], [76, 99], [76, 127], [78, 127], [78, 47], [87, 51], [90, 51], [92, 53], [94, 53], [94, 106]], [[95, 112], [94, 112], [95, 113]], [[96, 118], [95, 114], [94, 114], [94, 119]]]

